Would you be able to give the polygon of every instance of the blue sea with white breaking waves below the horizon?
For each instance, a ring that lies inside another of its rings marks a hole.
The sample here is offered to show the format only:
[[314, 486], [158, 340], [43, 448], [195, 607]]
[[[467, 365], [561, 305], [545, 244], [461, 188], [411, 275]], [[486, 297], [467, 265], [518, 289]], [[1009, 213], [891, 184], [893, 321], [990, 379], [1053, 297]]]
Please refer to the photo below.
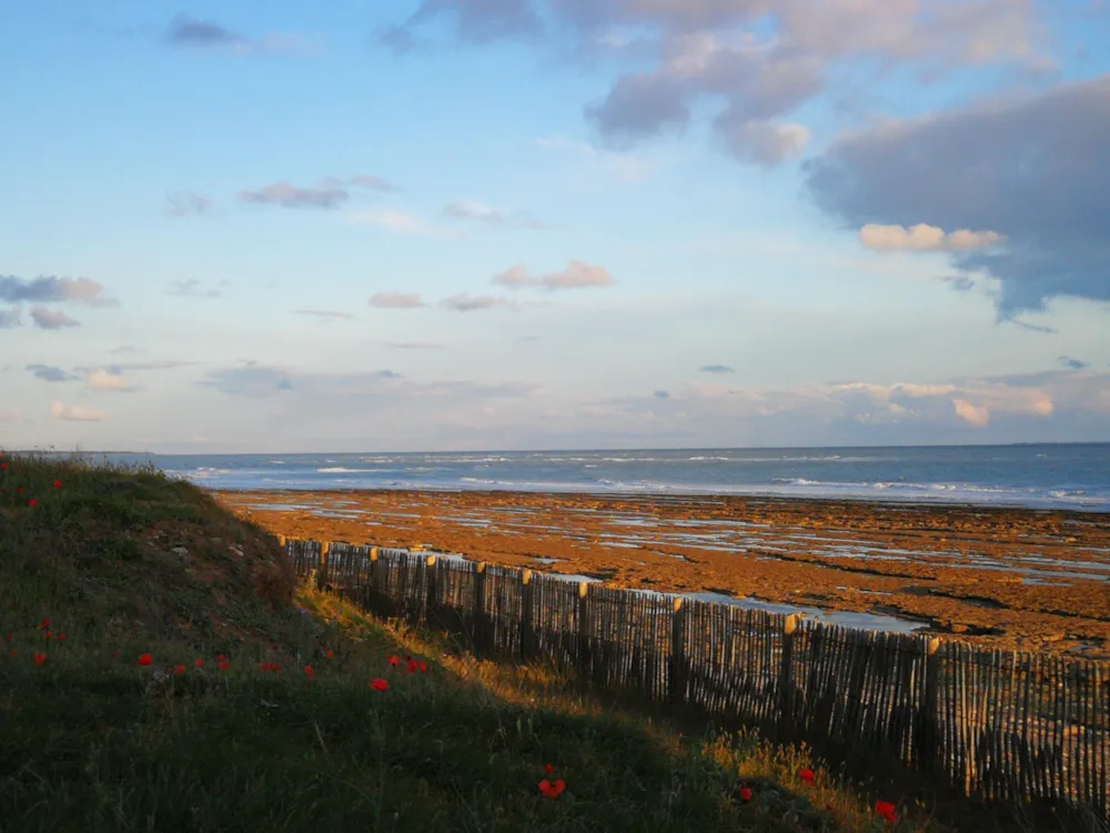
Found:
[[102, 456], [228, 490], [744, 494], [1110, 512], [1110, 443]]

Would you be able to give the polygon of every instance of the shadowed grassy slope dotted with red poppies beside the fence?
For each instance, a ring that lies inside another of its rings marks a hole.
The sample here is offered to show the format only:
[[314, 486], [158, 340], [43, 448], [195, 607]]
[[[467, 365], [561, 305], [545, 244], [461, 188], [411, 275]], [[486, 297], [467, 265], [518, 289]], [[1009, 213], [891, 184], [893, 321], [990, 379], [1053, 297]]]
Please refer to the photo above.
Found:
[[911, 794], [891, 825], [805, 749], [376, 621], [159, 472], [0, 463], [2, 833], [1028, 829]]

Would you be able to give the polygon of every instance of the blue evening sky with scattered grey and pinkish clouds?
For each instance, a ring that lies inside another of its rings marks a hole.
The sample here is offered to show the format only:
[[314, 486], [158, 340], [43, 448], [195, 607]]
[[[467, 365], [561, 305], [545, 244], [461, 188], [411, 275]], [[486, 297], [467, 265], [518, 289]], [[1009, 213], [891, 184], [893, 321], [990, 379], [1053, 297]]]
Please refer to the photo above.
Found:
[[1106, 0], [0, 10], [0, 446], [1110, 441]]

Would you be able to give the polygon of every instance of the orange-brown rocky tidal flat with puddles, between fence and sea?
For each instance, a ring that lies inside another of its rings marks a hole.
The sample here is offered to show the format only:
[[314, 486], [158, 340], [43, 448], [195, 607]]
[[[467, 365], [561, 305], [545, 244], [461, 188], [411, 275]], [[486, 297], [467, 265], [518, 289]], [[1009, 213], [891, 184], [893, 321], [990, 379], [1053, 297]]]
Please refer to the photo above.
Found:
[[1110, 514], [740, 496], [215, 495], [291, 538], [423, 546], [609, 586], [1110, 659]]

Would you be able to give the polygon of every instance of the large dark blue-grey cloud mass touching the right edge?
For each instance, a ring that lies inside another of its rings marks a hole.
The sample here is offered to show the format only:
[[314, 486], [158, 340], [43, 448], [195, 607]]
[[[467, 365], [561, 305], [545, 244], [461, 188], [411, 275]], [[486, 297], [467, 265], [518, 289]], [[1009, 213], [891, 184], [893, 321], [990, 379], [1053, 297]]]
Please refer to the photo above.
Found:
[[817, 204], [849, 228], [1005, 235], [952, 258], [999, 280], [1000, 318], [1060, 297], [1110, 300], [1110, 76], [862, 130], [807, 173]]

